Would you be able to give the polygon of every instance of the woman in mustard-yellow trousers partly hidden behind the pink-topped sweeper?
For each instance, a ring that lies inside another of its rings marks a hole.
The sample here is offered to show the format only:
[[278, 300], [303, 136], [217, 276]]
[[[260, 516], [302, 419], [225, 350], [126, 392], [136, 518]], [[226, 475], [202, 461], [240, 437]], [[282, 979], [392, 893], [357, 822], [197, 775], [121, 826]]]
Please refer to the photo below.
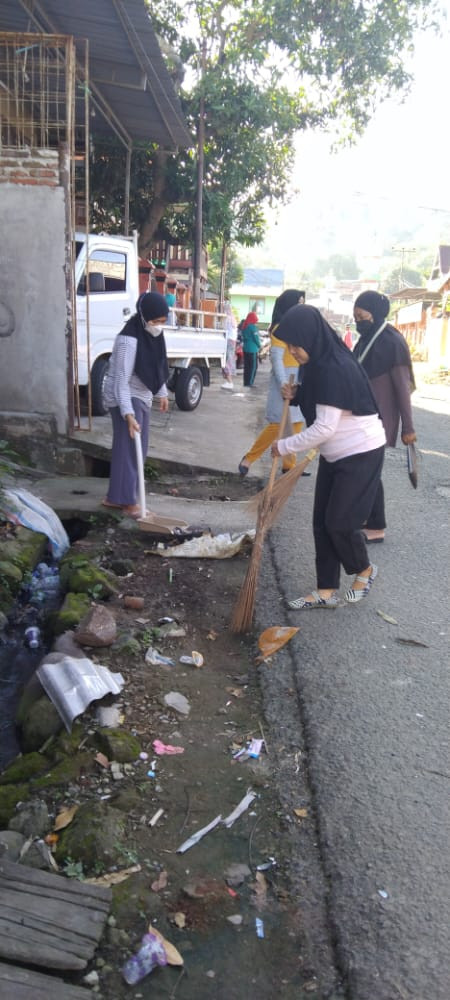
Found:
[[[256, 462], [261, 455], [270, 448], [273, 441], [279, 434], [281, 414], [283, 412], [283, 397], [281, 395], [282, 386], [289, 381], [289, 376], [297, 378], [298, 362], [289, 354], [286, 344], [278, 340], [276, 336], [277, 328], [281, 319], [292, 306], [305, 301], [305, 293], [297, 288], [286, 288], [276, 299], [272, 312], [272, 321], [269, 326], [270, 333], [270, 360], [272, 371], [270, 374], [269, 393], [266, 404], [267, 425], [256, 438], [252, 447], [247, 451], [239, 462], [239, 472], [241, 476], [246, 476], [253, 462]], [[298, 407], [290, 407], [290, 419], [292, 428], [296, 434], [302, 428], [302, 414]], [[283, 458], [283, 471], [288, 472], [296, 462], [295, 455], [286, 455]]]

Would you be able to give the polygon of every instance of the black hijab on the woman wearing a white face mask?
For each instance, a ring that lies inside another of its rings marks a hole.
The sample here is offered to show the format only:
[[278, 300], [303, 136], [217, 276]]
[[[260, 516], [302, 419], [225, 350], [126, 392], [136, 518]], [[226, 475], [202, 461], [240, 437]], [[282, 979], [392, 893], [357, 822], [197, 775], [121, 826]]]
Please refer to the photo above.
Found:
[[136, 302], [136, 309], [137, 312], [125, 323], [119, 337], [136, 338], [134, 371], [147, 389], [155, 395], [169, 377], [166, 342], [163, 333], [158, 337], [148, 333], [144, 323], [167, 316], [169, 307], [163, 295], [158, 292], [146, 292]]

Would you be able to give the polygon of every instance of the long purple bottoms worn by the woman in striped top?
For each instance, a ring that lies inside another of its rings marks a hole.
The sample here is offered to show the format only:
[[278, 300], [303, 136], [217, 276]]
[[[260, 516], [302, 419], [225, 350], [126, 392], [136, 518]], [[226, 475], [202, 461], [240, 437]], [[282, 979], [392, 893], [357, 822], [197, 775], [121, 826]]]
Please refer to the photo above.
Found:
[[[150, 429], [150, 410], [140, 399], [133, 397], [133, 410], [141, 428], [142, 454], [147, 454]], [[118, 406], [110, 409], [113, 425], [113, 443], [111, 451], [111, 468], [109, 472], [109, 488], [107, 499], [128, 507], [137, 501], [138, 474], [136, 464], [136, 446], [128, 433], [128, 424], [123, 419]]]

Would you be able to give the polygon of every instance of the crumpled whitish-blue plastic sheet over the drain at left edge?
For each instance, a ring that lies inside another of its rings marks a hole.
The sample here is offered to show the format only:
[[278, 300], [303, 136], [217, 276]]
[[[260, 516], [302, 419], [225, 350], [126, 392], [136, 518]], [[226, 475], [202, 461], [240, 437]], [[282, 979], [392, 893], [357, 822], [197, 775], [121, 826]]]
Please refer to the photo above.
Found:
[[3, 497], [8, 503], [2, 503], [4, 513], [14, 524], [21, 524], [31, 531], [40, 531], [47, 535], [50, 542], [51, 553], [54, 559], [61, 559], [61, 556], [69, 548], [69, 536], [65, 531], [58, 515], [44, 503], [35, 497], [29, 490], [18, 487], [8, 487], [3, 490]]

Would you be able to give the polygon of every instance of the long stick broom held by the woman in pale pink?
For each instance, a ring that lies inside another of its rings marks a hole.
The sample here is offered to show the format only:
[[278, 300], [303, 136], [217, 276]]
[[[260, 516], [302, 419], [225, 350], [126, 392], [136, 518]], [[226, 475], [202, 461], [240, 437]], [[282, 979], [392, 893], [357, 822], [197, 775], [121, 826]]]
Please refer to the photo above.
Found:
[[[289, 381], [290, 384], [292, 385], [293, 382], [292, 376]], [[280, 420], [278, 440], [282, 438], [284, 435], [284, 429], [286, 426], [286, 421], [289, 413], [289, 402], [290, 402], [289, 399], [285, 399], [284, 401], [283, 413]], [[236, 601], [236, 605], [233, 611], [233, 616], [231, 619], [232, 632], [248, 632], [252, 625], [253, 614], [255, 610], [256, 587], [258, 583], [259, 568], [261, 565], [264, 539], [266, 537], [270, 525], [273, 523], [273, 520], [271, 519], [271, 510], [270, 510], [271, 496], [272, 496], [272, 490], [274, 488], [275, 476], [277, 474], [279, 461], [280, 461], [280, 455], [275, 455], [275, 457], [272, 459], [272, 468], [270, 470], [269, 481], [264, 490], [264, 495], [262, 497], [259, 506], [253, 550], [248, 565], [247, 573], [245, 576], [245, 580], [239, 591], [239, 596]], [[286, 476], [284, 476], [283, 478], [285, 479]]]

